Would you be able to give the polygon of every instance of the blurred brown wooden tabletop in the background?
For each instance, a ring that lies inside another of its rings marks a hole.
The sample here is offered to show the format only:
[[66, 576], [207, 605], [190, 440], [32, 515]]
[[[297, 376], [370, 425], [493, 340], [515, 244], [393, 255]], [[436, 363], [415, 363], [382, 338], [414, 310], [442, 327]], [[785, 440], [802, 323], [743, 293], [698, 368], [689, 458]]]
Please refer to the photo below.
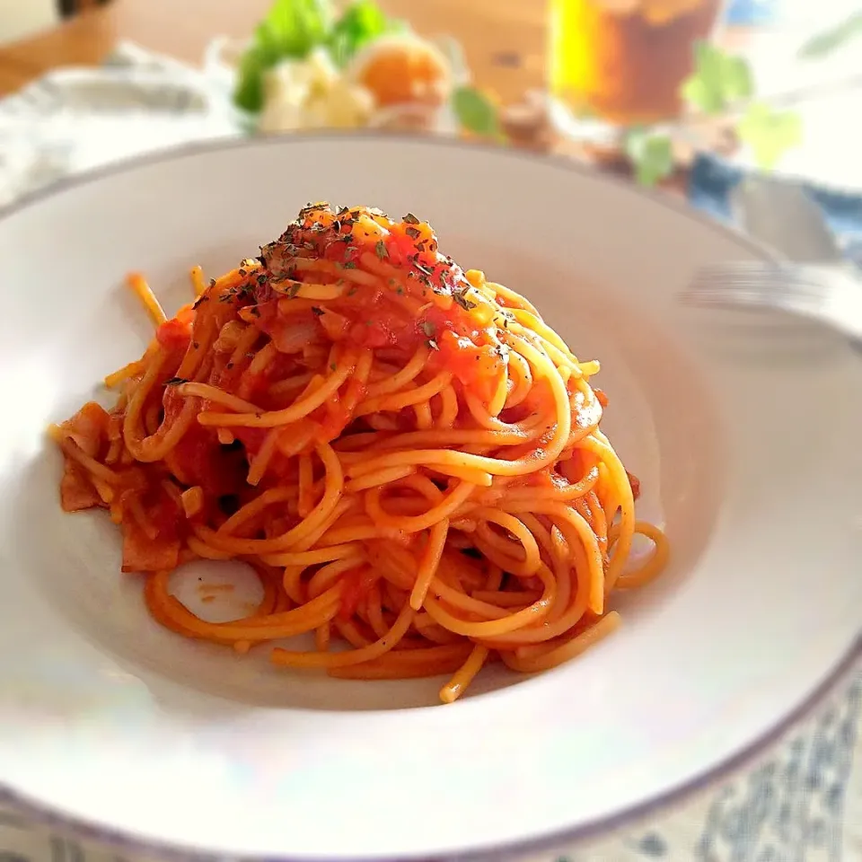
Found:
[[[55, 66], [98, 64], [118, 40], [190, 62], [214, 36], [247, 36], [271, 0], [112, 0], [39, 36], [0, 48], [0, 95]], [[545, 0], [380, 0], [427, 36], [460, 40], [476, 82], [505, 101], [541, 86]], [[516, 65], [513, 65], [513, 61]]]

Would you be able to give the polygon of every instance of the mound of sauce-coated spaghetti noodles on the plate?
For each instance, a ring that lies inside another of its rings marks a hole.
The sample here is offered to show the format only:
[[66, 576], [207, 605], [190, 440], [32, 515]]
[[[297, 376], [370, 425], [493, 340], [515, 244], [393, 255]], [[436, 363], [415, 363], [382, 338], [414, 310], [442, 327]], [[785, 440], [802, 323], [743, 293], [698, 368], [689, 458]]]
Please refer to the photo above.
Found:
[[[130, 277], [152, 343], [106, 379], [110, 412], [51, 429], [64, 509], [109, 511], [154, 618], [241, 653], [309, 634], [272, 661], [341, 678], [449, 674], [444, 702], [615, 629], [609, 594], [667, 543], [599, 429], [598, 364], [414, 216], [310, 205], [260, 251], [208, 286], [193, 269], [172, 319]], [[259, 607], [200, 619], [168, 585], [192, 559], [248, 562]]]

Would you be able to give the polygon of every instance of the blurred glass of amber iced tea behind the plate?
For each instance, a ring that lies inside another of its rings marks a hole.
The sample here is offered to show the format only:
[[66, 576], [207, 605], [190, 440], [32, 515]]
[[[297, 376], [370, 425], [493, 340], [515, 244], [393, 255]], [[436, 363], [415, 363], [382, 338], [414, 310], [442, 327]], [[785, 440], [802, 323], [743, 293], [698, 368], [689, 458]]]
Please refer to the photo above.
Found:
[[724, 0], [550, 0], [550, 89], [576, 114], [614, 125], [681, 110], [694, 43]]

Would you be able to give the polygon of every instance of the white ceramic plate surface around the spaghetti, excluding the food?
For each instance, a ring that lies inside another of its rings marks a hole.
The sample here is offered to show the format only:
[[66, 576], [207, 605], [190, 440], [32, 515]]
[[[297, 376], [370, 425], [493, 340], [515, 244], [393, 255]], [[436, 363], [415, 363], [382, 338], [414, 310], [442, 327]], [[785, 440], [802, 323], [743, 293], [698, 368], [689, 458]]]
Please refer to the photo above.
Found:
[[[428, 218], [602, 360], [606, 430], [673, 565], [615, 601], [623, 628], [581, 660], [489, 670], [452, 707], [427, 681], [285, 673], [160, 629], [107, 518], [60, 512], [44, 427], [151, 334], [127, 271], [173, 309], [191, 265], [235, 265], [321, 198]], [[501, 858], [570, 845], [768, 743], [859, 651], [862, 363], [816, 333], [790, 348], [678, 305], [694, 268], [764, 253], [572, 165], [389, 136], [172, 154], [7, 213], [4, 787], [144, 844]]]

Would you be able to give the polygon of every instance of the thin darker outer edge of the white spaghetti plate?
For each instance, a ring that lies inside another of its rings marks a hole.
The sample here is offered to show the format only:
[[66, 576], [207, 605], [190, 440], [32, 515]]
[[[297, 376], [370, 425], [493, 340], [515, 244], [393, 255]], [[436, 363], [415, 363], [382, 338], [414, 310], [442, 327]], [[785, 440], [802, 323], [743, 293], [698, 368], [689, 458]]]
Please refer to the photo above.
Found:
[[[114, 174], [134, 172], [139, 168], [165, 162], [179, 162], [199, 154], [221, 152], [233, 149], [253, 150], [258, 147], [273, 145], [290, 146], [300, 143], [308, 143], [320, 140], [351, 140], [371, 139], [386, 143], [397, 143], [406, 141], [427, 146], [452, 147], [461, 150], [474, 150], [478, 153], [494, 153], [503, 155], [504, 158], [526, 160], [532, 163], [542, 163], [555, 169], [574, 172], [582, 177], [589, 177], [600, 182], [616, 186], [618, 189], [639, 198], [646, 198], [658, 207], [669, 209], [677, 216], [687, 218], [704, 226], [708, 231], [718, 233], [726, 239], [739, 245], [746, 251], [760, 257], [761, 259], [781, 259], [777, 251], [771, 249], [764, 243], [753, 240], [744, 234], [733, 224], [717, 221], [714, 217], [707, 216], [690, 207], [684, 199], [673, 198], [670, 195], [655, 189], [645, 189], [620, 176], [611, 173], [603, 173], [594, 167], [581, 163], [574, 158], [561, 154], [538, 154], [516, 148], [506, 148], [500, 145], [483, 142], [468, 142], [454, 137], [435, 137], [423, 134], [382, 132], [376, 129], [358, 129], [349, 131], [321, 130], [309, 132], [294, 132], [285, 134], [260, 135], [249, 137], [230, 137], [218, 140], [198, 140], [181, 145], [162, 147], [150, 153], [120, 159], [108, 164], [92, 168], [85, 172], [75, 173], [61, 180], [49, 183], [38, 189], [28, 192], [11, 203], [0, 207], [0, 230], [4, 222], [17, 216], [23, 210], [47, 200], [62, 195], [70, 189], [80, 186], [91, 185], [99, 180]], [[857, 634], [849, 649], [840, 659], [832, 665], [831, 670], [825, 674], [814, 690], [810, 691], [801, 702], [794, 708], [778, 718], [770, 726], [770, 729], [743, 746], [737, 752], [727, 757], [724, 761], [717, 763], [712, 768], [684, 781], [676, 787], [652, 796], [638, 805], [630, 805], [620, 811], [594, 818], [592, 821], [583, 822], [577, 826], [554, 831], [550, 834], [540, 835], [523, 840], [506, 841], [501, 845], [488, 846], [487, 848], [473, 849], [456, 853], [437, 854], [431, 857], [422, 856], [424, 862], [472, 862], [494, 858], [498, 860], [512, 859], [519, 854], [530, 852], [541, 852], [544, 850], [567, 849], [577, 843], [584, 842], [619, 831], [628, 824], [645, 820], [650, 814], [658, 814], [673, 805], [681, 803], [688, 797], [696, 796], [704, 792], [708, 787], [715, 786], [722, 780], [729, 778], [734, 772], [741, 770], [746, 764], [758, 760], [765, 755], [783, 737], [785, 737], [795, 726], [802, 724], [805, 719], [812, 717], [817, 709], [828, 699], [831, 699], [844, 686], [849, 685], [850, 680], [862, 668], [862, 630]], [[48, 826], [57, 827], [69, 832], [75, 837], [84, 840], [99, 841], [114, 848], [122, 849], [129, 853], [158, 854], [166, 860], [183, 860], [188, 862], [192, 859], [212, 858], [220, 856], [221, 852], [216, 848], [181, 846], [172, 842], [137, 835], [131, 831], [114, 828], [108, 823], [90, 820], [78, 815], [66, 814], [53, 806], [40, 803], [10, 787], [0, 777], [0, 805], [10, 805], [30, 816], [34, 821]], [[244, 859], [268, 860], [268, 862], [310, 862], [307, 858], [296, 856], [262, 856], [259, 854], [243, 854]], [[379, 862], [408, 862], [409, 859], [417, 860], [418, 856], [405, 857], [385, 856], [374, 857]], [[331, 857], [332, 862], [350, 862], [348, 857]], [[363, 858], [367, 862], [368, 857]], [[315, 859], [314, 862], [321, 862]], [[356, 862], [359, 862], [357, 859]]]

